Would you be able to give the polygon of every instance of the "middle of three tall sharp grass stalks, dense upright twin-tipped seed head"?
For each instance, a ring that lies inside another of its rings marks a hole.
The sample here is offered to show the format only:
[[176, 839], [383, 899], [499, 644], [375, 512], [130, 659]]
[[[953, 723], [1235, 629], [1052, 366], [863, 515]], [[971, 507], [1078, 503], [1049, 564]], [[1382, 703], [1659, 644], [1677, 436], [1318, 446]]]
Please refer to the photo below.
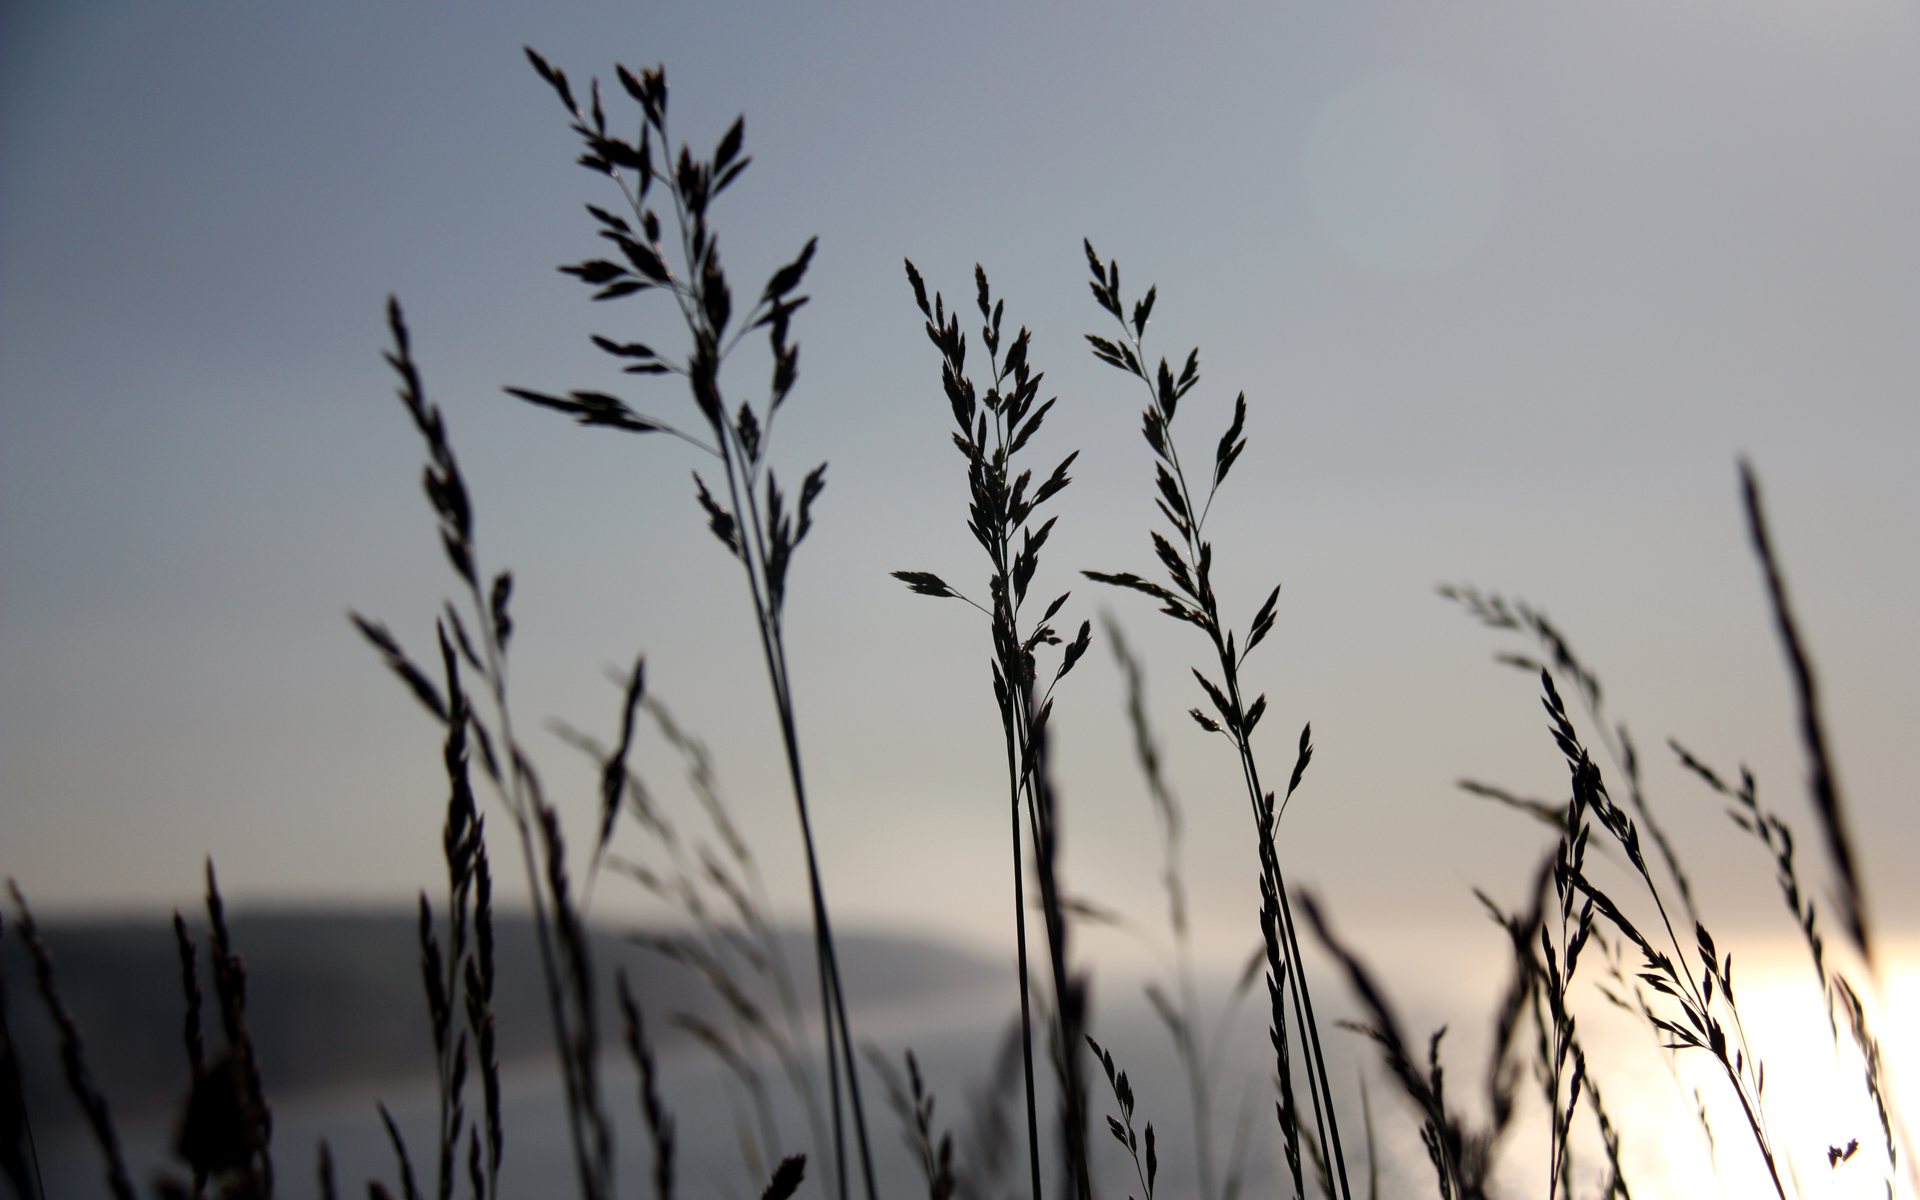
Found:
[[[1066, 914], [1062, 910], [1060, 889], [1054, 877], [1058, 839], [1054, 833], [1052, 793], [1044, 770], [1044, 724], [1052, 710], [1052, 689], [1066, 678], [1081, 655], [1087, 653], [1091, 624], [1081, 622], [1079, 636], [1068, 645], [1046, 693], [1035, 701], [1033, 689], [1037, 668], [1033, 651], [1039, 645], [1060, 645], [1060, 636], [1048, 624], [1068, 595], [1052, 601], [1046, 612], [1025, 634], [1020, 630], [1020, 609], [1027, 599], [1033, 572], [1039, 568], [1039, 553], [1054, 528], [1048, 518], [1039, 532], [1027, 526], [1033, 513], [1060, 493], [1071, 480], [1068, 468], [1079, 451], [1069, 453], [1041, 482], [1033, 495], [1027, 495], [1031, 470], [1014, 474], [1014, 459], [1041, 428], [1054, 401], [1035, 405], [1041, 392], [1043, 372], [1033, 372], [1027, 361], [1031, 336], [1021, 326], [1020, 334], [1000, 357], [1000, 319], [1006, 313], [1006, 300], [993, 300], [987, 273], [975, 263], [973, 284], [975, 301], [981, 315], [981, 342], [987, 346], [987, 365], [991, 384], [985, 394], [977, 394], [973, 380], [966, 374], [966, 334], [960, 332], [958, 309], [948, 313], [945, 296], [933, 294], [927, 303], [927, 286], [920, 271], [906, 261], [906, 280], [914, 290], [914, 303], [925, 317], [927, 340], [941, 351], [941, 384], [952, 407], [954, 445], [968, 463], [970, 511], [968, 528], [973, 540], [993, 564], [987, 578], [989, 607], [968, 599], [950, 588], [941, 576], [925, 570], [897, 570], [893, 576], [912, 591], [931, 597], [950, 597], [972, 605], [987, 614], [993, 636], [993, 693], [1000, 710], [1000, 730], [1006, 741], [1006, 785], [1008, 816], [1012, 824], [1014, 854], [1014, 943], [1020, 970], [1020, 1033], [1021, 1066], [1025, 1068], [1027, 1091], [1027, 1165], [1031, 1173], [1033, 1200], [1041, 1200], [1041, 1139], [1039, 1102], [1033, 1075], [1033, 1012], [1029, 998], [1027, 966], [1027, 902], [1025, 902], [1025, 864], [1020, 851], [1020, 810], [1027, 808], [1027, 828], [1033, 839], [1035, 870], [1041, 885], [1041, 908], [1046, 924], [1048, 962], [1054, 975], [1054, 1016], [1056, 1066], [1062, 1087], [1062, 1137], [1066, 1140], [1066, 1165], [1071, 1187], [1079, 1196], [1087, 1196], [1091, 1183], [1085, 1154], [1085, 1083], [1079, 1077], [1079, 1033], [1071, 1029], [1085, 1002], [1077, 995], [1077, 983], [1068, 977], [1066, 968]], [[985, 411], [981, 411], [985, 409]], [[1016, 547], [1016, 534], [1020, 545]]]

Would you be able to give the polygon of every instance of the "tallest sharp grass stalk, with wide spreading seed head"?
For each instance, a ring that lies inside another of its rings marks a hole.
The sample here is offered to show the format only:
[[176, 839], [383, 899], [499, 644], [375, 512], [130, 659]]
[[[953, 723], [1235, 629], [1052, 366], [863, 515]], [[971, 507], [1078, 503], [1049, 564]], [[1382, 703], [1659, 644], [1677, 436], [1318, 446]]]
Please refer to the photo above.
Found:
[[[599, 225], [599, 234], [618, 246], [624, 263], [611, 259], [589, 259], [578, 265], [561, 267], [566, 275], [595, 288], [595, 300], [614, 300], [645, 290], [664, 290], [674, 298], [680, 317], [691, 336], [693, 348], [685, 359], [668, 359], [639, 342], [612, 342], [593, 336], [593, 344], [605, 353], [620, 359], [630, 374], [680, 374], [687, 380], [695, 407], [707, 420], [712, 442], [703, 442], [674, 426], [641, 417], [624, 401], [605, 392], [570, 392], [568, 396], [549, 396], [524, 388], [507, 388], [509, 394], [528, 403], [555, 409], [574, 417], [580, 424], [597, 424], [634, 434], [664, 432], [699, 445], [720, 459], [726, 472], [726, 503], [708, 492], [707, 482], [695, 472], [695, 488], [701, 509], [708, 516], [708, 528], [739, 559], [747, 574], [747, 591], [753, 599], [755, 624], [760, 636], [760, 651], [766, 660], [768, 684], [774, 693], [774, 708], [780, 718], [780, 735], [785, 749], [787, 776], [793, 785], [793, 803], [801, 824], [801, 843], [806, 852], [806, 881], [812, 897], [814, 950], [820, 973], [820, 1008], [826, 1025], [828, 1079], [833, 1102], [833, 1144], [835, 1175], [839, 1194], [847, 1196], [847, 1146], [845, 1146], [845, 1108], [841, 1100], [841, 1073], [852, 1108], [854, 1137], [858, 1142], [860, 1169], [868, 1200], [877, 1200], [874, 1185], [872, 1150], [868, 1146], [866, 1114], [860, 1100], [860, 1075], [854, 1062], [852, 1031], [847, 1021], [845, 989], [841, 987], [839, 956], [833, 948], [833, 927], [828, 916], [826, 887], [820, 877], [820, 858], [814, 849], [810, 808], [806, 803], [806, 776], [801, 768], [801, 745], [793, 710], [793, 691], [787, 668], [783, 607], [787, 588], [787, 564], [795, 547], [806, 538], [812, 526], [810, 509], [826, 488], [826, 465], [806, 474], [801, 486], [799, 503], [787, 511], [785, 495], [766, 463], [766, 449], [772, 438], [774, 417], [781, 401], [793, 388], [799, 374], [799, 346], [787, 342], [793, 313], [806, 303], [806, 296], [791, 296], [806, 275], [806, 265], [814, 253], [814, 242], [768, 280], [766, 290], [728, 334], [733, 317], [733, 300], [720, 267], [718, 240], [707, 223], [707, 209], [720, 196], [751, 159], [741, 157], [745, 121], [735, 121], [707, 159], [697, 159], [691, 148], [682, 146], [678, 161], [668, 159], [662, 169], [653, 156], [653, 138], [670, 146], [666, 131], [666, 73], [647, 69], [639, 77], [626, 67], [616, 67], [620, 86], [641, 108], [641, 127], [637, 142], [624, 142], [607, 132], [607, 115], [601, 108], [599, 81], [591, 86], [591, 115], [582, 111], [574, 100], [566, 75], [551, 67], [532, 48], [526, 50], [534, 71], [553, 88], [561, 106], [572, 117], [572, 131], [586, 144], [580, 163], [595, 175], [605, 175], [618, 184], [634, 223], [605, 209], [588, 205]], [[637, 186], [628, 186], [622, 171], [632, 171]], [[680, 261], [685, 276], [674, 275], [660, 250], [659, 213], [645, 205], [653, 182], [659, 180], [672, 202], [676, 227], [680, 232]], [[751, 403], [741, 403], [730, 415], [720, 394], [720, 367], [739, 342], [753, 330], [766, 328], [774, 361], [768, 403], [764, 413], [756, 413]], [[764, 501], [756, 495], [760, 476], [766, 476]]]

